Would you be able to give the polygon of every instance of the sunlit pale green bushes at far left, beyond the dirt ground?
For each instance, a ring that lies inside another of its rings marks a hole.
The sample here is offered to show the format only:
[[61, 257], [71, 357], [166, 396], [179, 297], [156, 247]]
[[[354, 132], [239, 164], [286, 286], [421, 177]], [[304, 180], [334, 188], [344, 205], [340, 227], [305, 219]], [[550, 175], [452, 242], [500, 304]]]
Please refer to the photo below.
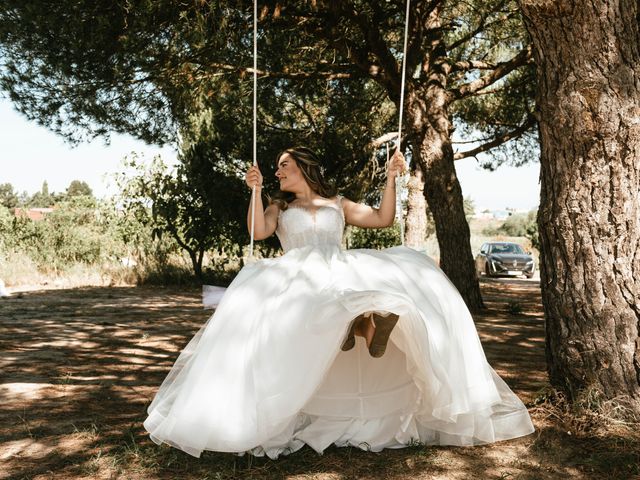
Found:
[[[100, 200], [82, 181], [62, 193], [48, 191], [44, 182], [33, 195], [0, 186], [0, 278], [9, 284], [85, 272], [107, 282], [193, 282], [181, 246], [157, 234], [152, 209], [122, 207], [122, 198]], [[16, 215], [16, 208], [54, 207], [39, 220]], [[224, 269], [221, 270], [223, 273]], [[221, 279], [226, 283], [235, 272]]]

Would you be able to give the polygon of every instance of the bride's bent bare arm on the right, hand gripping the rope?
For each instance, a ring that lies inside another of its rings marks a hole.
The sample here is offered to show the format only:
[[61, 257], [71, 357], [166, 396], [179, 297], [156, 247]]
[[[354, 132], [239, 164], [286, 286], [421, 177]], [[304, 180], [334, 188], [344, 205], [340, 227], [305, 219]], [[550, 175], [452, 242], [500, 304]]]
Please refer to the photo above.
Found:
[[396, 176], [405, 168], [404, 156], [399, 151], [389, 161], [387, 181], [379, 208], [342, 200], [344, 217], [349, 225], [362, 228], [381, 228], [393, 225], [396, 215]]

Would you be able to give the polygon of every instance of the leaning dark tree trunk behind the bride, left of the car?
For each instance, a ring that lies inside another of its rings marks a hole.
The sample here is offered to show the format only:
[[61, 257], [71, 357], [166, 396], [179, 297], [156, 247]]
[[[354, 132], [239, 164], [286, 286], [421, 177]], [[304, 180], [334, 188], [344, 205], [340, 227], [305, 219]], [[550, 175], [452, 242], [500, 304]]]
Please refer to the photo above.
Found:
[[472, 311], [484, 308], [471, 252], [462, 189], [453, 164], [446, 92], [439, 86], [412, 90], [407, 97], [416, 161], [425, 172], [424, 195], [440, 247], [440, 268]]

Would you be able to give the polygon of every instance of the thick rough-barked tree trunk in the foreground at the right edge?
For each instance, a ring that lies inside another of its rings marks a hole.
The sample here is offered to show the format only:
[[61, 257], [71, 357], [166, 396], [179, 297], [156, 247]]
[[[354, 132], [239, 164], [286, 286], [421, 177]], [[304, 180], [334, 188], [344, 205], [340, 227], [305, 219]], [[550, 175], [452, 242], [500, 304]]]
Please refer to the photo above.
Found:
[[551, 382], [640, 411], [637, 0], [520, 0], [541, 137], [542, 299]]

